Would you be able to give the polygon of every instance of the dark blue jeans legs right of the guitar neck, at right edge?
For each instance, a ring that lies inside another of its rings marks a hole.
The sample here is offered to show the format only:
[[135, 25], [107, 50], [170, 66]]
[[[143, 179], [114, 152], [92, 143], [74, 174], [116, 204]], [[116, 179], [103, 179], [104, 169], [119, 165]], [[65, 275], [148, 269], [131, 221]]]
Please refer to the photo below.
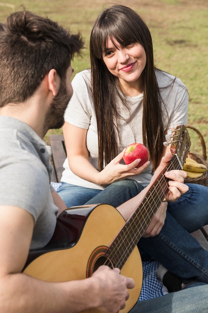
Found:
[[159, 235], [141, 238], [138, 247], [143, 260], [151, 255], [183, 282], [208, 283], [208, 251], [190, 235], [208, 224], [208, 187], [188, 185], [186, 194], [168, 203], [165, 224]]

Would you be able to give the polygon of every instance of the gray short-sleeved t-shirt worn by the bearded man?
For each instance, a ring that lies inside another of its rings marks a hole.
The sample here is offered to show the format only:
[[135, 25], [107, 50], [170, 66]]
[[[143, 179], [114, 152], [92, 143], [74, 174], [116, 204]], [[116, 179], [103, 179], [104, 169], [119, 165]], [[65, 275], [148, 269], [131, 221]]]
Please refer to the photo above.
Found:
[[[0, 116], [0, 205], [18, 206], [34, 218], [31, 249], [45, 246], [55, 229], [57, 206], [50, 187], [50, 154], [27, 124]], [[12, 209], [11, 209], [12, 218]]]

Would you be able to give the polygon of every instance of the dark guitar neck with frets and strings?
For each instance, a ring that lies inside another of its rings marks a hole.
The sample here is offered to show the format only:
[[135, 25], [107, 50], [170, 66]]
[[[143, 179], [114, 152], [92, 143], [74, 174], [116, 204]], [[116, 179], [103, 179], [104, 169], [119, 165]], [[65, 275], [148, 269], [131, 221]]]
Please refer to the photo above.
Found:
[[130, 253], [135, 248], [143, 232], [158, 210], [160, 204], [166, 197], [169, 191], [169, 179], [165, 176], [165, 172], [172, 169], [182, 169], [181, 163], [176, 154], [172, 157], [168, 166], [166, 166], [160, 173], [143, 201], [121, 229], [116, 240], [109, 247], [106, 254], [107, 256], [110, 256], [110, 258], [113, 257], [116, 267], [123, 267]]

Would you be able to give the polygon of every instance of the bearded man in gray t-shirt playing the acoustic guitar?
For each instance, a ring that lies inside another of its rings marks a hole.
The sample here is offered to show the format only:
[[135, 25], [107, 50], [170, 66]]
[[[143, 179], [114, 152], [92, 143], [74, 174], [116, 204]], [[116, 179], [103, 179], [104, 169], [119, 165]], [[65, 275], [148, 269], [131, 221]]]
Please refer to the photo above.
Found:
[[[0, 312], [117, 312], [135, 285], [104, 265], [90, 278], [55, 283], [22, 272], [29, 250], [49, 242], [65, 208], [50, 189], [50, 155], [41, 138], [62, 126], [73, 92], [70, 62], [82, 47], [80, 34], [28, 11], [0, 25]], [[176, 199], [187, 191], [184, 177], [173, 171], [170, 178], [168, 199]]]

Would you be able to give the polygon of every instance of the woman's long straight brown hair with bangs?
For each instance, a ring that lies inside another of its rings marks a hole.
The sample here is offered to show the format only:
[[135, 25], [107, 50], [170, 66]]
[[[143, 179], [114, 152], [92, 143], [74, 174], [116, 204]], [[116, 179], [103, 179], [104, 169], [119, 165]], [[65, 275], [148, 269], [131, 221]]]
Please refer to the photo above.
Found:
[[95, 21], [90, 36], [91, 88], [98, 127], [98, 168], [102, 170], [105, 164], [118, 154], [115, 135], [117, 120], [121, 117], [116, 105], [118, 98], [128, 108], [118, 78], [110, 73], [102, 59], [108, 37], [112, 42], [116, 39], [122, 46], [139, 42], [145, 49], [147, 62], [142, 73], [143, 143], [149, 149], [150, 159], [155, 169], [163, 155], [165, 130], [162, 100], [155, 75], [152, 37], [143, 19], [135, 11], [123, 5], [113, 5], [105, 9]]

